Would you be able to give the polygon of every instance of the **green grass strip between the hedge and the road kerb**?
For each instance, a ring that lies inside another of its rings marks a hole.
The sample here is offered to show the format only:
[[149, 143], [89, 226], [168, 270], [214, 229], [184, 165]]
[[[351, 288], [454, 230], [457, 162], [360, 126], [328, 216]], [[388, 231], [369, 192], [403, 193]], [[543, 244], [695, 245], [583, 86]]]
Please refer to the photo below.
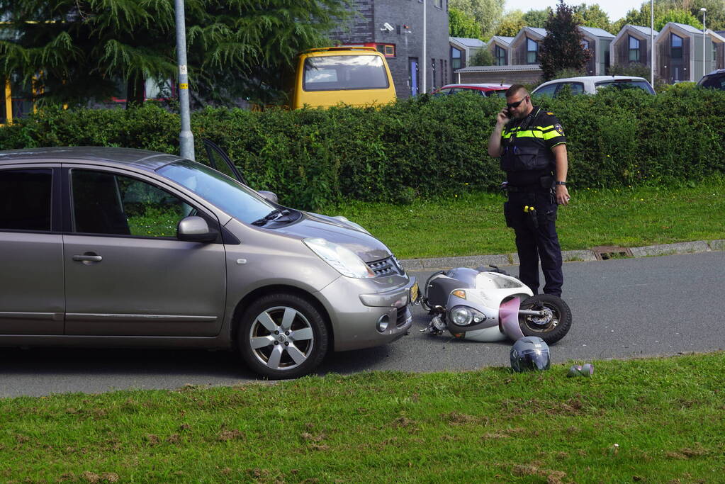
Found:
[[[725, 179], [674, 188], [571, 189], [557, 220], [563, 250], [639, 247], [725, 238]], [[384, 241], [400, 259], [508, 254], [503, 195], [461, 193], [410, 205], [352, 201], [321, 211], [344, 215]]]

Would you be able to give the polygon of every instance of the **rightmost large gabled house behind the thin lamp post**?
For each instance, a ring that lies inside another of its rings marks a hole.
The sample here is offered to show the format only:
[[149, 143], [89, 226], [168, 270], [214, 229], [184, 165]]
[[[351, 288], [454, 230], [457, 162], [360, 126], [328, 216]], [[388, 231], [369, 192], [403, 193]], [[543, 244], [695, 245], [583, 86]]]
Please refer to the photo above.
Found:
[[655, 38], [656, 72], [666, 83], [697, 82], [723, 65], [724, 38], [677, 22], [668, 22]]

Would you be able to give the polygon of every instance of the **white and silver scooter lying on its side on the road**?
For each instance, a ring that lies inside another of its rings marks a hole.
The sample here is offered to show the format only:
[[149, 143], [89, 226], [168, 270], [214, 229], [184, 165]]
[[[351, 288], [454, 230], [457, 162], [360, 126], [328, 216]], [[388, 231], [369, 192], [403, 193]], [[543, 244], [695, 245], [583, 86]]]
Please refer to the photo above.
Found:
[[498, 267], [457, 267], [431, 275], [421, 304], [431, 315], [423, 332], [448, 330], [471, 341], [517, 341], [539, 336], [547, 344], [563, 338], [571, 327], [571, 310], [550, 294], [531, 289]]

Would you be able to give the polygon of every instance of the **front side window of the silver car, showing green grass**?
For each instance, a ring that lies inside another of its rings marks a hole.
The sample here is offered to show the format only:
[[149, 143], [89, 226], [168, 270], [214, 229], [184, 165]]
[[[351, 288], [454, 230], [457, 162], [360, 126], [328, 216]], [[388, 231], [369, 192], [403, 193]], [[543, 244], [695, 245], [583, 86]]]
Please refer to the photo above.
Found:
[[111, 172], [72, 170], [75, 232], [135, 237], [175, 237], [188, 204], [165, 190]]

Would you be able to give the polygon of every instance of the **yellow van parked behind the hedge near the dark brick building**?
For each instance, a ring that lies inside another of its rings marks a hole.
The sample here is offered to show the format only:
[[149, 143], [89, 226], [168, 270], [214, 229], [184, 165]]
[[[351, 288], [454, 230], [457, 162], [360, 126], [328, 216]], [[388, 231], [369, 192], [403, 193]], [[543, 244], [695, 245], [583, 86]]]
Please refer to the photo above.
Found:
[[395, 101], [383, 54], [373, 47], [310, 49], [299, 55], [290, 107], [380, 106]]

